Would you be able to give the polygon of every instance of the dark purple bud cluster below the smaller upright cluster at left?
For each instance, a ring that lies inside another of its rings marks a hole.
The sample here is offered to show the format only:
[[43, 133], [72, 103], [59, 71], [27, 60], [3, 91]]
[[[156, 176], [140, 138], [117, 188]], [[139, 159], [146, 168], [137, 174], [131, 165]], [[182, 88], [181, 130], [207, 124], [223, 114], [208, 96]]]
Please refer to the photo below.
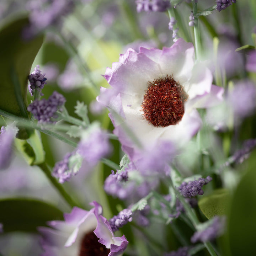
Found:
[[53, 123], [58, 117], [57, 110], [62, 111], [61, 107], [66, 102], [65, 97], [54, 91], [53, 94], [46, 99], [34, 100], [27, 110], [31, 112], [40, 123]]

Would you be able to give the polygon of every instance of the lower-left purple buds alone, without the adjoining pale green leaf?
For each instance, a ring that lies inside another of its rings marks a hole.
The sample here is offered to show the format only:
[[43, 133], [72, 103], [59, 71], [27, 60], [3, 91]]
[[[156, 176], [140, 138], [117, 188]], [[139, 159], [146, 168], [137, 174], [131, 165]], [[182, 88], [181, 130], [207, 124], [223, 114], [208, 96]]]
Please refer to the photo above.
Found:
[[62, 161], [55, 164], [53, 168], [52, 176], [59, 179], [59, 183], [69, 181], [72, 176], [75, 175], [73, 168], [69, 166], [69, 159], [75, 155], [75, 151], [67, 153]]

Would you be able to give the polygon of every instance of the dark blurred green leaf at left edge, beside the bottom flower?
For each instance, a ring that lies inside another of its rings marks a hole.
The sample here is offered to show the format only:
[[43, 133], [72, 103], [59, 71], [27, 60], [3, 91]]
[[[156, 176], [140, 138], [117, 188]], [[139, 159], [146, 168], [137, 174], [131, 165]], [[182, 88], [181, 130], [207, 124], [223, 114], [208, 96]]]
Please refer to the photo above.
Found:
[[63, 212], [46, 202], [28, 198], [0, 200], [0, 223], [4, 232], [36, 232], [49, 220], [63, 220]]

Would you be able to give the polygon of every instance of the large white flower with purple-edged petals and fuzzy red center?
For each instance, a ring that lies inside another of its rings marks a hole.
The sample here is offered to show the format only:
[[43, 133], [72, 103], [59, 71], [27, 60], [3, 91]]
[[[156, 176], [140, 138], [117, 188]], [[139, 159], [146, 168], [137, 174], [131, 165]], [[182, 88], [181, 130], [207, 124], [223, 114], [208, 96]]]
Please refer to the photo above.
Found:
[[201, 127], [196, 108], [215, 105], [223, 94], [206, 65], [195, 63], [193, 44], [182, 38], [162, 50], [128, 49], [105, 78], [112, 88], [101, 88], [97, 100], [110, 110], [114, 134], [131, 161], [163, 141], [184, 145]]

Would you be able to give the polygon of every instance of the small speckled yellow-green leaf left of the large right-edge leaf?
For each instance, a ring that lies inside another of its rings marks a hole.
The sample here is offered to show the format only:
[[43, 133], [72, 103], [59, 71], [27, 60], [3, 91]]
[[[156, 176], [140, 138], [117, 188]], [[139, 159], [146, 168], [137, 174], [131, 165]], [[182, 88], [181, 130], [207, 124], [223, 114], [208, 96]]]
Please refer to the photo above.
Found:
[[198, 206], [202, 213], [208, 218], [216, 215], [224, 215], [228, 210], [230, 202], [229, 191], [225, 188], [215, 190], [209, 196], [204, 196], [198, 201]]

